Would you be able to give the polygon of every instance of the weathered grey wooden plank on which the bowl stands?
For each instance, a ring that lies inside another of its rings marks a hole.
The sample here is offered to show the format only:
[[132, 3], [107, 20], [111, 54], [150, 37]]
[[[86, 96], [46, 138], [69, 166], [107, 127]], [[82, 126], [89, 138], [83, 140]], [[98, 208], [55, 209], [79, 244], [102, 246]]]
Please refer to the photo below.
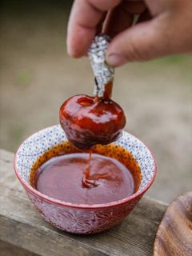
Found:
[[152, 255], [166, 204], [142, 198], [118, 226], [100, 234], [67, 234], [50, 226], [31, 205], [13, 168], [14, 154], [0, 151], [0, 240], [42, 256]]

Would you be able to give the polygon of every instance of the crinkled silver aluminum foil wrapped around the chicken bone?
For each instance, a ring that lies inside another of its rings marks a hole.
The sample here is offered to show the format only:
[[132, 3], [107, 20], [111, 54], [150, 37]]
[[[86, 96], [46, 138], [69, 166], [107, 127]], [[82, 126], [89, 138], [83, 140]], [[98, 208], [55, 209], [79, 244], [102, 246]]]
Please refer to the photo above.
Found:
[[114, 68], [108, 66], [105, 61], [107, 47], [110, 44], [110, 37], [106, 34], [95, 36], [88, 50], [90, 65], [94, 71], [94, 95], [103, 97], [105, 86], [114, 81]]

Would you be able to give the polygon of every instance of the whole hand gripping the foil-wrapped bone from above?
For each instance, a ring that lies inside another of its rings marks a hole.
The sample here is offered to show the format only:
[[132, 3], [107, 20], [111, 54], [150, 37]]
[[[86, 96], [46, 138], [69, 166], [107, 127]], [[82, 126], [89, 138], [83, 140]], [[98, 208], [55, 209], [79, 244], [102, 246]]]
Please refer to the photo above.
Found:
[[[134, 14], [139, 18], [132, 26]], [[86, 55], [101, 31], [113, 38], [106, 52], [111, 66], [187, 53], [192, 51], [192, 1], [76, 0], [68, 26], [70, 56]]]

